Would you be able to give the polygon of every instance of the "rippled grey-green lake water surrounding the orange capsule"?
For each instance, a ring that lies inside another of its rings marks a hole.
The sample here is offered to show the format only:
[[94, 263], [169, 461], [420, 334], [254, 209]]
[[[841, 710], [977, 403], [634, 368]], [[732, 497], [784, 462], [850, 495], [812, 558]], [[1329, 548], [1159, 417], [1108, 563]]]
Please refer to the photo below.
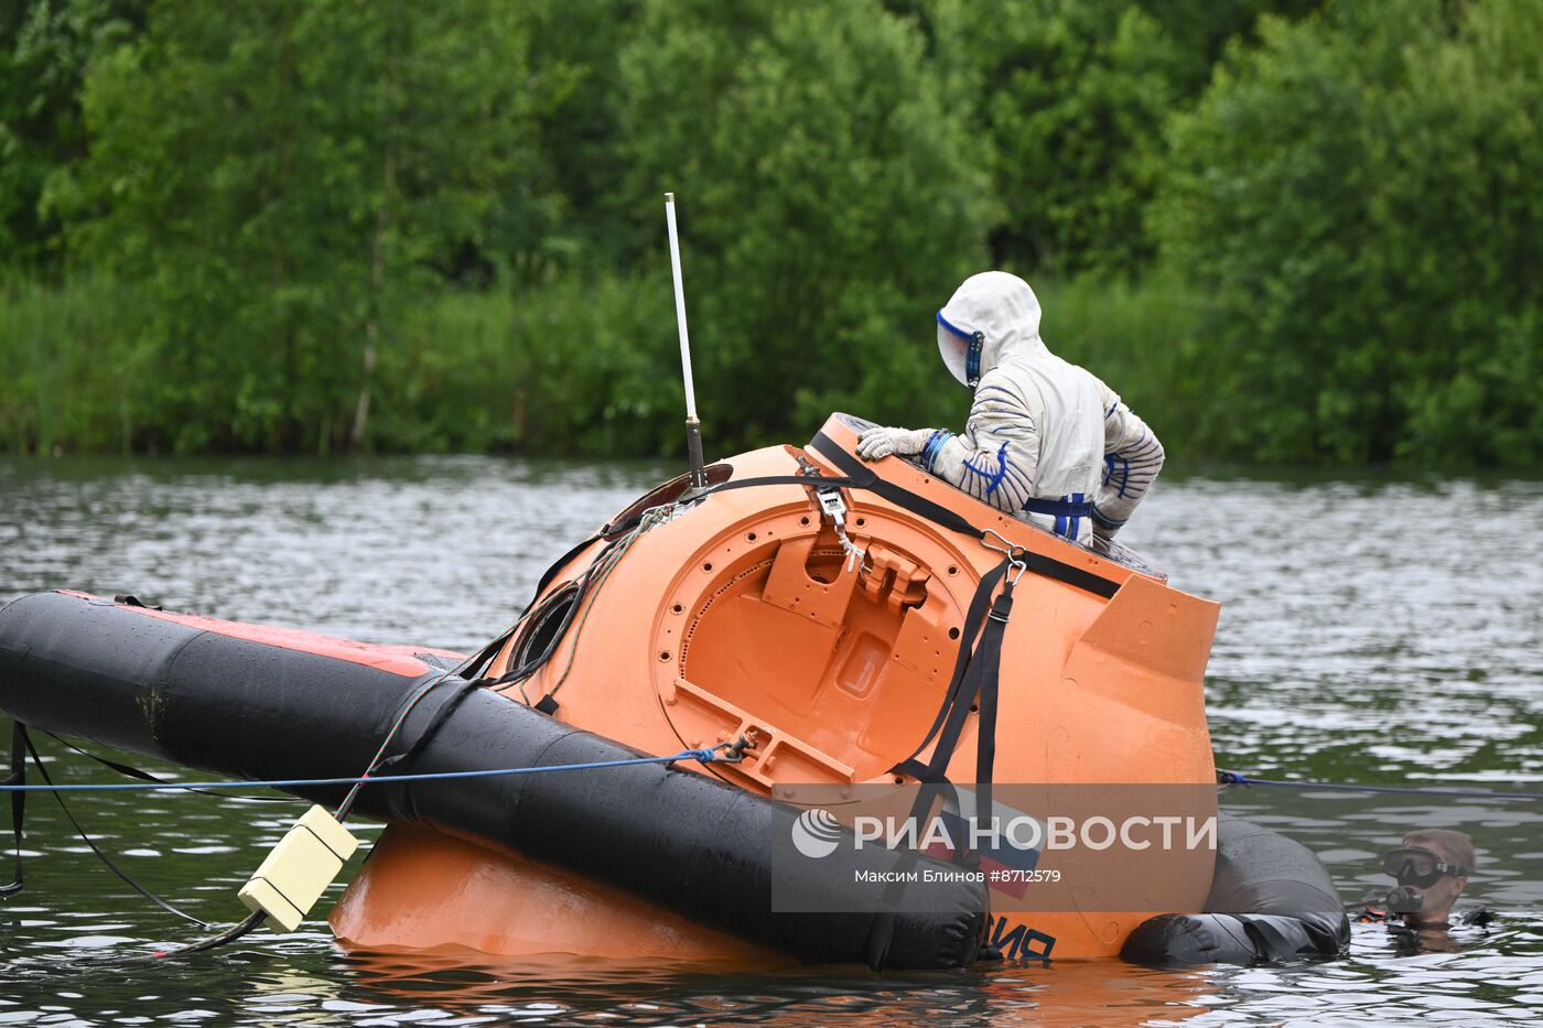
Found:
[[[555, 554], [668, 472], [461, 457], [0, 463], [0, 600], [69, 585], [469, 650], [511, 621]], [[1219, 766], [1543, 792], [1540, 483], [1170, 474], [1122, 539], [1179, 588], [1224, 604], [1208, 678]], [[42, 747], [62, 779], [110, 776]], [[321, 921], [176, 966], [125, 965], [199, 929], [114, 878], [34, 796], [28, 886], [0, 901], [0, 1025], [1543, 1020], [1543, 804], [1265, 787], [1225, 803], [1312, 846], [1347, 900], [1387, 884], [1375, 855], [1404, 829], [1463, 826], [1480, 847], [1464, 900], [1500, 918], [1426, 940], [1358, 926], [1344, 960], [1183, 972], [511, 965], [347, 954]], [[122, 793], [69, 806], [133, 877], [214, 921], [242, 912], [236, 888], [298, 812]]]

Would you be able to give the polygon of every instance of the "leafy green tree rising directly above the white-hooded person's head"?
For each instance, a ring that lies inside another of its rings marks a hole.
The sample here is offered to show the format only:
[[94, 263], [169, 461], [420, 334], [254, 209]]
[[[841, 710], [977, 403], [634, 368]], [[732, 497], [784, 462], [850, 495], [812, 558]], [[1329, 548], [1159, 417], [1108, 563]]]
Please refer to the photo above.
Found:
[[937, 62], [967, 97], [972, 161], [989, 168], [998, 264], [1131, 272], [1179, 51], [1129, 0], [949, 3]]

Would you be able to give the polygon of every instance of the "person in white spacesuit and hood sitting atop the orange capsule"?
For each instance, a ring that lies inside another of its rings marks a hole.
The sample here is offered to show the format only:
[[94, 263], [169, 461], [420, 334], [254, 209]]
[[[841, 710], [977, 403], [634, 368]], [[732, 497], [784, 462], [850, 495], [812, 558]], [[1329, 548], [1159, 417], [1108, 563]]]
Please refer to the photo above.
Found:
[[858, 455], [917, 457], [1057, 536], [1111, 539], [1162, 469], [1162, 443], [1097, 377], [1045, 347], [1029, 284], [1006, 272], [964, 279], [938, 312], [938, 350], [975, 394], [964, 434], [872, 428]]

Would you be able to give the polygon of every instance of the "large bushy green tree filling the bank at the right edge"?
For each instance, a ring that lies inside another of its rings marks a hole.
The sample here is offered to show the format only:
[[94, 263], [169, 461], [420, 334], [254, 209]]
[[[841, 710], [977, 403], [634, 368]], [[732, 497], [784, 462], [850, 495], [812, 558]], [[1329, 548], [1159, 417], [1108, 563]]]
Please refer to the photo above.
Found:
[[1543, 6], [1267, 20], [1174, 120], [1153, 225], [1210, 298], [1224, 445], [1537, 460]]

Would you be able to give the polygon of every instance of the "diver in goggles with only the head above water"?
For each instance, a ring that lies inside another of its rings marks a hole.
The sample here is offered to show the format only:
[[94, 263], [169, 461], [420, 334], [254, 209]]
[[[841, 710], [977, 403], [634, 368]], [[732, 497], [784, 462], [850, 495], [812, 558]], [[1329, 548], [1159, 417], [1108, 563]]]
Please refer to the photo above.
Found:
[[[1446, 931], [1452, 926], [1452, 905], [1463, 895], [1478, 857], [1474, 840], [1452, 829], [1421, 829], [1404, 837], [1403, 846], [1383, 854], [1383, 871], [1398, 880], [1396, 889], [1375, 892], [1362, 903], [1356, 920], [1393, 921], [1415, 931]], [[1458, 925], [1483, 926], [1494, 920], [1489, 911], [1469, 911]]]

